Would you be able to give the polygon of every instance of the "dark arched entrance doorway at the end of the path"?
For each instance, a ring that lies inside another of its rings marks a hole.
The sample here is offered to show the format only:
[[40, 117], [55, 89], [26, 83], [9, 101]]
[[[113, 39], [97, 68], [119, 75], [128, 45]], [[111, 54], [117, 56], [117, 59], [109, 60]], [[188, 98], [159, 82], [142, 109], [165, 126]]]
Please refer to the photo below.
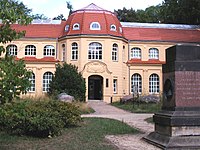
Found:
[[102, 100], [103, 98], [103, 77], [92, 75], [88, 78], [88, 99]]

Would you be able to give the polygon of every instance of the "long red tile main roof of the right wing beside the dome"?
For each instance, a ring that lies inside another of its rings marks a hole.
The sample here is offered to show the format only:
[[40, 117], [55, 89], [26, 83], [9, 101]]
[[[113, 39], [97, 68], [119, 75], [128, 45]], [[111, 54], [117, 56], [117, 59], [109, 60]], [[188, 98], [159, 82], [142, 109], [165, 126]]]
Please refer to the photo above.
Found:
[[200, 43], [200, 30], [124, 27], [124, 36], [134, 41]]

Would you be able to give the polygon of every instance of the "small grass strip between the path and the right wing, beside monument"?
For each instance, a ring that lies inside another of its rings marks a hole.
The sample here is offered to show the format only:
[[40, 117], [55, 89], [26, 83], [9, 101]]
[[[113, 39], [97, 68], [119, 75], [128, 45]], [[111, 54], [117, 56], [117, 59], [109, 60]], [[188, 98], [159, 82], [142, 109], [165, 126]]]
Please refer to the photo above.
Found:
[[133, 113], [155, 113], [161, 109], [161, 103], [133, 105], [133, 103], [121, 104], [120, 102], [114, 102], [111, 105]]

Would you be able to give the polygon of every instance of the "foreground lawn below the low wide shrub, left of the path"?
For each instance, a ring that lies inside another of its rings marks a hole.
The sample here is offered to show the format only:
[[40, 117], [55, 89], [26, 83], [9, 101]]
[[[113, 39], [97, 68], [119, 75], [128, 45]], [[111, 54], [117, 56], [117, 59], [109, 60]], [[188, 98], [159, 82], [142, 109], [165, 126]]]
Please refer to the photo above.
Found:
[[62, 135], [40, 139], [26, 136], [14, 136], [0, 132], [1, 150], [115, 150], [114, 145], [105, 140], [105, 135], [136, 134], [136, 129], [123, 122], [84, 118], [82, 126], [67, 128]]

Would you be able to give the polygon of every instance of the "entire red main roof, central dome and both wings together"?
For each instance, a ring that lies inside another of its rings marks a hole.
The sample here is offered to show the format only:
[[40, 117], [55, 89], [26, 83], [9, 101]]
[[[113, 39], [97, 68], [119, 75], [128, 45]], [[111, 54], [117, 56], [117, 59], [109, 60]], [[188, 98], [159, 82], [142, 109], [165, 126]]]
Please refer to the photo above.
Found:
[[[99, 22], [101, 30], [90, 30], [92, 22]], [[80, 30], [72, 30], [73, 25], [78, 23]], [[116, 25], [117, 31], [110, 31], [110, 26]], [[65, 26], [70, 25], [69, 31], [65, 32]], [[30, 24], [21, 26], [12, 25], [15, 30], [26, 30], [26, 38], [60, 38], [71, 35], [111, 35], [125, 37], [132, 41], [158, 41], [158, 42], [184, 42], [200, 43], [200, 29], [167, 29], [142, 26], [124, 26], [123, 33], [119, 31], [122, 27], [114, 13], [104, 10], [95, 4], [90, 4], [83, 9], [73, 12], [67, 21], [60, 24]]]

